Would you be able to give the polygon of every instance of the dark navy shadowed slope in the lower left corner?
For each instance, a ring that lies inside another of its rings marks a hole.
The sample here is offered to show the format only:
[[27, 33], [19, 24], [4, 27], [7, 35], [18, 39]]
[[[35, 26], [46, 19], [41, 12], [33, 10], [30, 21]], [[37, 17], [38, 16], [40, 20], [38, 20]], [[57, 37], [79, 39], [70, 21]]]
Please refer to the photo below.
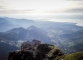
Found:
[[2, 57], [8, 54], [10, 51], [17, 50], [19, 48], [12, 46], [8, 43], [0, 42], [0, 60]]

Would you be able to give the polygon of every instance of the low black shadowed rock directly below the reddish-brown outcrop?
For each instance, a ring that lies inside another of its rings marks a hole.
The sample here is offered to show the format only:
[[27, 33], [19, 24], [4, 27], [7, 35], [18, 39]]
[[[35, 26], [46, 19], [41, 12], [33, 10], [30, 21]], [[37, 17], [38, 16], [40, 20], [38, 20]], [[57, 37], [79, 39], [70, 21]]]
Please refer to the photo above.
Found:
[[15, 52], [10, 52], [7, 59], [8, 60], [33, 60], [34, 56], [31, 52], [15, 51]]

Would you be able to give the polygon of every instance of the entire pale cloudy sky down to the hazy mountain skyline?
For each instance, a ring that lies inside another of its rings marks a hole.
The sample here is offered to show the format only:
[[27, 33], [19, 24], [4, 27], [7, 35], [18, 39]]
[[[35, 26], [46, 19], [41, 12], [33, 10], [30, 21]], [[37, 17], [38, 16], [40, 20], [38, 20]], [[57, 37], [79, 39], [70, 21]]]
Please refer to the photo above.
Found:
[[0, 16], [83, 25], [83, 0], [0, 0]]

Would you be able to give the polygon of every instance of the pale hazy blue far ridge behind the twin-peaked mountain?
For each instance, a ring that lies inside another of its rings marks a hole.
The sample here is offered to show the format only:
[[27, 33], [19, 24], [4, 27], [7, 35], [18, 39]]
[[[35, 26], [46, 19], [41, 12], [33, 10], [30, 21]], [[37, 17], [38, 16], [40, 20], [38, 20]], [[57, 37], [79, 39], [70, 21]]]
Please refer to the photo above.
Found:
[[34, 25], [36, 22], [30, 19], [16, 19], [5, 17], [8, 21], [11, 21], [13, 24], [18, 25], [19, 27], [28, 28], [30, 25]]

